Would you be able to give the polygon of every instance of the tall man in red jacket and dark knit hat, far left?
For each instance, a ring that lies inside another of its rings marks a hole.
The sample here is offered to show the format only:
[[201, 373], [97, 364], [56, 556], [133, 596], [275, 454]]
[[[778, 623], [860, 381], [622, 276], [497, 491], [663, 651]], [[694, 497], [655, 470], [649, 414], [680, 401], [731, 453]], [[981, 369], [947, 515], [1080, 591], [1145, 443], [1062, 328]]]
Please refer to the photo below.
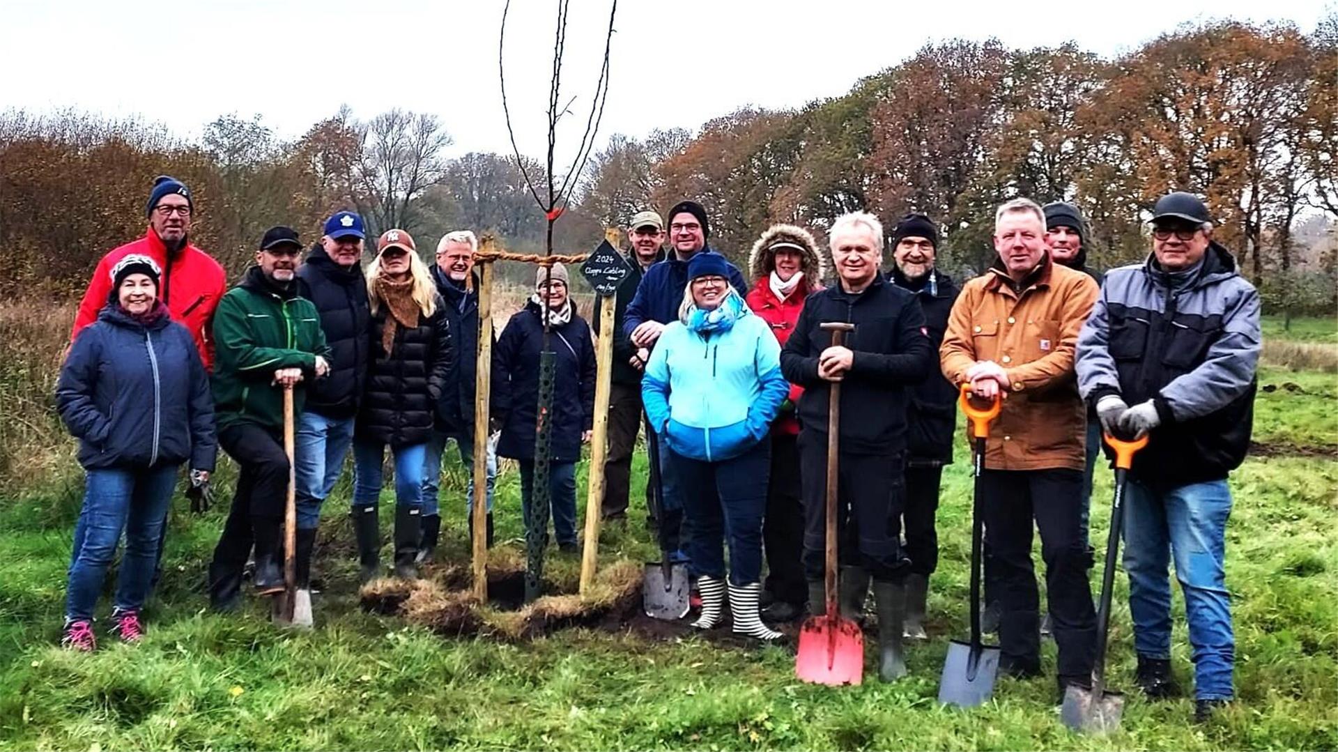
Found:
[[171, 317], [179, 321], [195, 340], [205, 368], [213, 371], [214, 345], [209, 341], [214, 309], [226, 292], [223, 268], [203, 250], [190, 244], [190, 219], [194, 206], [190, 189], [177, 178], [158, 175], [145, 211], [149, 230], [145, 237], [112, 249], [98, 262], [88, 290], [79, 302], [70, 341], [84, 326], [98, 320], [98, 312], [111, 293], [111, 268], [131, 253], [147, 256], [162, 269], [159, 300], [167, 304]]

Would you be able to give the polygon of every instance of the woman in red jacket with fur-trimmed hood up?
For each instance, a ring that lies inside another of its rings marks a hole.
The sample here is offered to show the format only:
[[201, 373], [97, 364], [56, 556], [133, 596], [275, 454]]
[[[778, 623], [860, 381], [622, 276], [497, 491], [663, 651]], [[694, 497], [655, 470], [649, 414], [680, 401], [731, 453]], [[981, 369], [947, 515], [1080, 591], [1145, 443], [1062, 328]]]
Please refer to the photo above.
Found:
[[[772, 225], [753, 244], [748, 273], [753, 289], [748, 308], [771, 325], [784, 347], [799, 321], [808, 293], [822, 289], [827, 265], [814, 236], [793, 225]], [[808, 590], [800, 555], [804, 551], [804, 508], [799, 484], [799, 420], [795, 405], [804, 389], [789, 385], [789, 397], [771, 424], [771, 480], [767, 486], [767, 512], [763, 516], [763, 546], [767, 553], [765, 591], [771, 605], [768, 621], [792, 621], [804, 613]]]

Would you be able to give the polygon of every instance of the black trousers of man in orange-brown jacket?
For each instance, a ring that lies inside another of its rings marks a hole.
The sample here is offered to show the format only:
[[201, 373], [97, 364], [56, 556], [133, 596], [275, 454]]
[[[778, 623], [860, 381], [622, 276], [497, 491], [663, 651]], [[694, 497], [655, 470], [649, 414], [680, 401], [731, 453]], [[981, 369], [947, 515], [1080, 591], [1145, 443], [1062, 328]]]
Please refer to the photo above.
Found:
[[1002, 662], [1040, 668], [1040, 594], [1032, 569], [1034, 519], [1041, 533], [1050, 629], [1060, 649], [1057, 673], [1086, 681], [1096, 652], [1096, 609], [1080, 534], [1082, 471], [986, 470], [981, 494], [998, 587]]

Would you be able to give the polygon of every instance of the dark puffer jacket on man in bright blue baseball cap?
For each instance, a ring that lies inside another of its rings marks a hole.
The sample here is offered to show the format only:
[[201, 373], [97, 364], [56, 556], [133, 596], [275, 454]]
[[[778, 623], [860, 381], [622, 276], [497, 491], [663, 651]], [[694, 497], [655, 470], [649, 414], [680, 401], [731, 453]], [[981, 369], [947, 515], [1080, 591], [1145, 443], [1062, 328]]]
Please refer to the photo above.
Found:
[[330, 348], [330, 372], [308, 387], [305, 409], [336, 420], [352, 417], [367, 388], [371, 360], [372, 313], [363, 269], [334, 264], [316, 245], [297, 270], [297, 294], [316, 304]]

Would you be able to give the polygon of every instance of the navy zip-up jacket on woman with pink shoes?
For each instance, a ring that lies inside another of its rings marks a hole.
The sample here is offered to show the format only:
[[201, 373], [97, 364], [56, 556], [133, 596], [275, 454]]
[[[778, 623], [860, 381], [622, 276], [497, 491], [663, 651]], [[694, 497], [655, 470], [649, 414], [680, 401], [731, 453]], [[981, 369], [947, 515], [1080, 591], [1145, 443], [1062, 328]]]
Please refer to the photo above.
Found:
[[214, 468], [209, 375], [190, 332], [166, 310], [146, 326], [108, 302], [71, 345], [56, 407], [87, 470], [187, 459], [193, 470]]

